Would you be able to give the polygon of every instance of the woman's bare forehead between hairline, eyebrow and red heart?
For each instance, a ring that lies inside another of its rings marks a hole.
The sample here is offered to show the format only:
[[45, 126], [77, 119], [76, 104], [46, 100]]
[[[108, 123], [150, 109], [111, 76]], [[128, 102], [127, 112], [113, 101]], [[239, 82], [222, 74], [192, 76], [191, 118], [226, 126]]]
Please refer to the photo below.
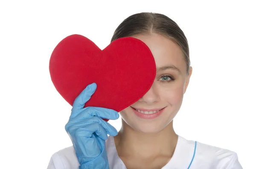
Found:
[[174, 65], [181, 72], [186, 72], [183, 52], [175, 42], [160, 34], [138, 34], [133, 37], [143, 41], [151, 50], [157, 68]]

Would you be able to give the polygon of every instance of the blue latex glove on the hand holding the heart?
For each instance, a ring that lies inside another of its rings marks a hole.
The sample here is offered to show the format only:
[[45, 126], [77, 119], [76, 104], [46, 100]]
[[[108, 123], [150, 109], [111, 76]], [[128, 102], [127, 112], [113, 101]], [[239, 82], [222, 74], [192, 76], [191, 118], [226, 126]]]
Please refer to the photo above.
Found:
[[102, 118], [116, 120], [118, 112], [101, 107], [84, 108], [96, 88], [96, 83], [92, 83], [81, 92], [65, 125], [80, 163], [79, 169], [109, 169], [105, 140], [108, 135], [117, 135], [116, 129]]

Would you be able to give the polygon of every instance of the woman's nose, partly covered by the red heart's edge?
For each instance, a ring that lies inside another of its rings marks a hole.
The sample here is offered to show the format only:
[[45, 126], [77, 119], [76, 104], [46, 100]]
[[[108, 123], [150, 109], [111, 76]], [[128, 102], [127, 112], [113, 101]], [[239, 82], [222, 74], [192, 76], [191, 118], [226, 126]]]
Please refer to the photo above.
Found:
[[145, 102], [147, 104], [153, 104], [157, 103], [159, 101], [159, 93], [157, 92], [157, 86], [153, 85], [151, 88], [148, 90], [148, 92], [145, 93], [143, 97], [140, 98], [140, 102]]

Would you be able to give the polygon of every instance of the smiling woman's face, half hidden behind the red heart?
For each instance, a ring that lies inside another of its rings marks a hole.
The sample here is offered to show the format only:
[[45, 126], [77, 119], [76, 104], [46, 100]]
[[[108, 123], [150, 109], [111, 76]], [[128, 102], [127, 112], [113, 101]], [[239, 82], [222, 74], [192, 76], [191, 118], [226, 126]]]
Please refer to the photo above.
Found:
[[[187, 75], [183, 52], [169, 38], [160, 34], [140, 34], [133, 37], [142, 40], [149, 47], [154, 56], [157, 69], [163, 66], [172, 66], [178, 69], [157, 71], [154, 83], [149, 91], [136, 103], [120, 112], [122, 119], [134, 130], [144, 133], [159, 132], [172, 122], [179, 111], [183, 94], [189, 84], [192, 67], [190, 67], [190, 74]], [[159, 116], [145, 119], [140, 114], [136, 114], [133, 108], [165, 109]]]

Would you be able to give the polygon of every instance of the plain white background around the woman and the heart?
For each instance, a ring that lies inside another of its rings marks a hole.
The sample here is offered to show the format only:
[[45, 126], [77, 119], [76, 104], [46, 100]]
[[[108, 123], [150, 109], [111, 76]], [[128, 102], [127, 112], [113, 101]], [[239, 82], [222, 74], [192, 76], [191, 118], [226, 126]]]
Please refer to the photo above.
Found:
[[[126, 17], [143, 11], [166, 14], [189, 41], [193, 74], [177, 134], [230, 149], [244, 169], [255, 167], [253, 0], [20, 0], [0, 2], [1, 169], [46, 169], [53, 153], [72, 146], [64, 129], [72, 107], [49, 76], [55, 46], [81, 34], [104, 49]], [[120, 119], [110, 123], [120, 129]]]

